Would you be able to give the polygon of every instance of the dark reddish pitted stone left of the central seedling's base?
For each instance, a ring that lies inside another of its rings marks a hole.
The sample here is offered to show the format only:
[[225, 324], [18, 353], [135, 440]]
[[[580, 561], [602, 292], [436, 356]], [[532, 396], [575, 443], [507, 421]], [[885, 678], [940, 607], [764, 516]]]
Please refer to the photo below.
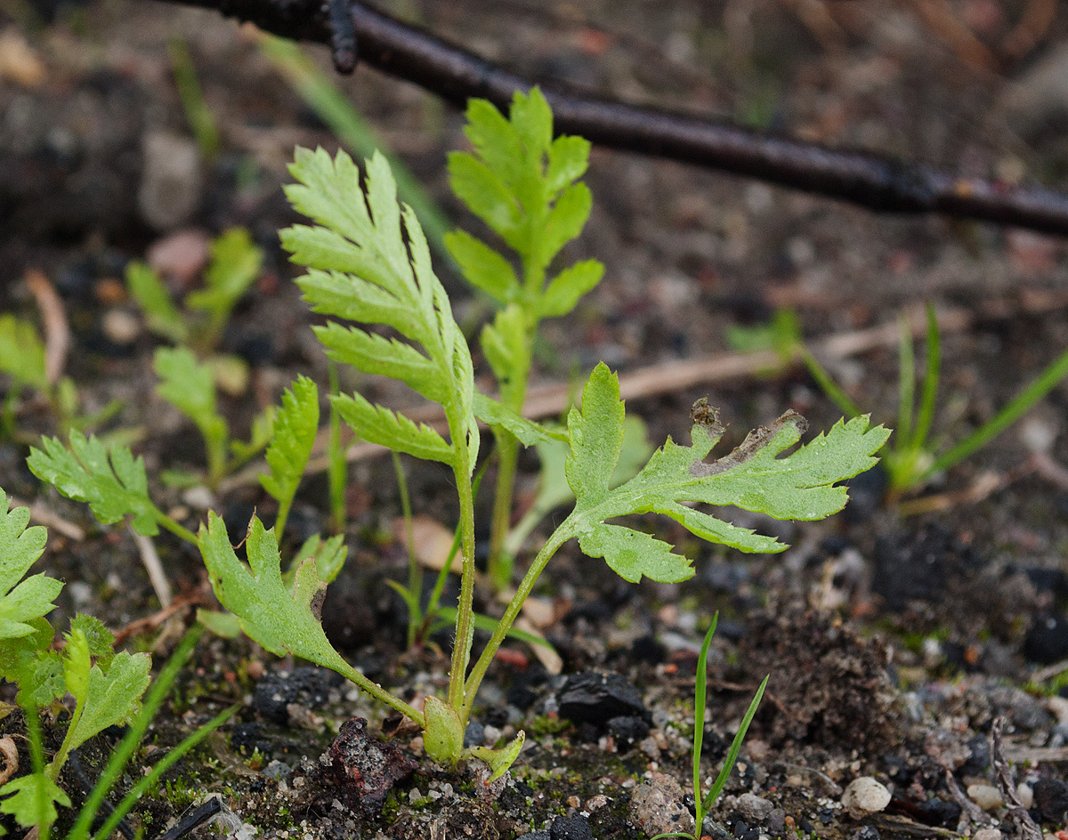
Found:
[[393, 742], [372, 738], [362, 717], [342, 724], [328, 755], [334, 778], [356, 795], [368, 814], [380, 811], [393, 786], [419, 766]]

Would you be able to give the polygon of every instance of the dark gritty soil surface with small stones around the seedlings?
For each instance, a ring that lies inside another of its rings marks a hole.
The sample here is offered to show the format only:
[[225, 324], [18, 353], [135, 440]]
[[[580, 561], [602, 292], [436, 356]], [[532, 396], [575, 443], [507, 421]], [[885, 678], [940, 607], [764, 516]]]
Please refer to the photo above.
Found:
[[[1000, 49], [1040, 5], [509, 0], [391, 9], [532, 79], [961, 175], [1068, 188], [1068, 11], [1057, 6], [1049, 27], [1035, 31], [1037, 45], [996, 70], [977, 66], [976, 44]], [[917, 11], [943, 6], [974, 43]], [[9, 3], [0, 25], [3, 308], [36, 320], [26, 279], [43, 272], [64, 303], [73, 336], [66, 373], [82, 406], [122, 401], [105, 430], [134, 430], [150, 475], [203, 467], [194, 430], [154, 393], [158, 343], [126, 298], [124, 267], [147, 256], [184, 294], [199, 283], [210, 236], [235, 225], [251, 231], [266, 252], [264, 270], [222, 343], [251, 370], [224, 402], [244, 432], [297, 373], [327, 381], [313, 316], [277, 232], [296, 221], [280, 189], [294, 146], [332, 150], [337, 141], [260, 52], [254, 33], [218, 15], [129, 0], [58, 10]], [[192, 142], [168, 51], [175, 38], [188, 46], [218, 123], [214, 159]], [[325, 50], [309, 51], [329, 67]], [[444, 169], [446, 153], [464, 146], [462, 115], [364, 67], [340, 84], [446, 215], [473, 227], [449, 194]], [[765, 322], [781, 306], [792, 307], [815, 340], [893, 323], [931, 302], [963, 314], [942, 340], [933, 439], [949, 443], [1068, 345], [1062, 240], [879, 217], [603, 149], [593, 153], [587, 183], [593, 217], [568, 253], [602, 259], [606, 280], [576, 313], [546, 324], [536, 384], [565, 383], [598, 360], [626, 374], [726, 351], [728, 327]], [[446, 266], [440, 270], [474, 335], [485, 305]], [[922, 359], [922, 343], [916, 352]], [[488, 389], [488, 368], [476, 364]], [[864, 410], [895, 424], [896, 342], [828, 365]], [[343, 385], [412, 405], [389, 383]], [[659, 445], [668, 434], [686, 440], [690, 406], [706, 395], [732, 424], [729, 445], [786, 409], [802, 412], [813, 430], [838, 417], [801, 369], [649, 393], [628, 410]], [[54, 431], [44, 403], [28, 395], [18, 421], [26, 440]], [[66, 582], [53, 625], [90, 613], [116, 633], [134, 631], [124, 644], [152, 649], [161, 662], [194, 620], [192, 608], [162, 620], [131, 533], [99, 526], [84, 506], [43, 489], [27, 454], [22, 441], [0, 447], [0, 486], [83, 530], [64, 536], [53, 527], [37, 565]], [[888, 504], [877, 470], [857, 479], [850, 506], [826, 522], [734, 517], [789, 542], [780, 555], [742, 557], [650, 519], [650, 529], [693, 557], [696, 574], [679, 585], [633, 586], [565, 546], [535, 592], [559, 673], [508, 643], [468, 732], [492, 744], [527, 731], [528, 746], [501, 783], [485, 783], [474, 766], [434, 766], [409, 734], [383, 740], [391, 725], [383, 710], [329, 671], [278, 661], [248, 641], [205, 638], [120, 787], [225, 706], [236, 701], [240, 711], [168, 772], [130, 822], [150, 838], [170, 829], [168, 837], [637, 840], [692, 830], [684, 790], [694, 671], [719, 611], [702, 722], [705, 778], [714, 777], [753, 692], [771, 677], [706, 835], [992, 840], [992, 829], [1021, 835], [1026, 820], [1058, 833], [1068, 826], [1068, 680], [1056, 666], [1068, 657], [1062, 464], [1064, 384], [900, 507]], [[406, 466], [415, 513], [451, 528], [445, 474]], [[524, 456], [521, 467], [520, 512], [533, 496], [536, 458]], [[206, 516], [203, 493], [156, 482], [153, 492], [189, 527]], [[209, 501], [235, 542], [253, 510], [273, 513], [254, 482]], [[387, 584], [407, 575], [406, 552], [392, 536], [400, 502], [389, 459], [352, 464], [347, 504], [349, 558], [324, 605], [328, 634], [365, 673], [405, 696], [440, 693], [449, 633], [406, 651], [404, 607]], [[298, 496], [294, 541], [327, 533], [327, 517], [326, 480], [316, 475]], [[545, 536], [536, 530], [529, 548]], [[178, 602], [210, 605], [200, 558], [167, 535], [156, 542]], [[488, 592], [480, 588], [478, 608], [499, 613]], [[137, 623], [146, 618], [161, 620]], [[11, 700], [13, 687], [3, 692]], [[999, 718], [1005, 734], [992, 745]], [[0, 728], [23, 731], [17, 715]], [[117, 738], [106, 732], [81, 750], [87, 778], [63, 778], [76, 804]], [[996, 773], [1006, 762], [1011, 784]], [[210, 796], [221, 809], [209, 823], [179, 823]], [[1024, 810], [1011, 811], [1006, 796]]]

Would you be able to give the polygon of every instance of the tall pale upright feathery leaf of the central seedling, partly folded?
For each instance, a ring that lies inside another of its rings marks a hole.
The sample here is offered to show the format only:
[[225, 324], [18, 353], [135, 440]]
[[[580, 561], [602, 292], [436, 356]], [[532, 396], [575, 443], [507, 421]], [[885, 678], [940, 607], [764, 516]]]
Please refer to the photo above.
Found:
[[423, 231], [411, 208], [397, 204], [386, 158], [376, 153], [367, 161], [363, 184], [344, 152], [331, 159], [323, 149], [297, 149], [290, 172], [298, 183], [286, 187], [286, 195], [318, 223], [282, 232], [293, 259], [311, 269], [298, 281], [305, 300], [316, 312], [382, 324], [410, 342], [331, 322], [316, 328], [328, 355], [398, 379], [439, 402], [454, 441], [360, 394], [333, 397], [339, 413], [364, 440], [454, 465], [455, 437], [462, 435], [473, 469], [478, 429], [471, 354], [430, 266]]

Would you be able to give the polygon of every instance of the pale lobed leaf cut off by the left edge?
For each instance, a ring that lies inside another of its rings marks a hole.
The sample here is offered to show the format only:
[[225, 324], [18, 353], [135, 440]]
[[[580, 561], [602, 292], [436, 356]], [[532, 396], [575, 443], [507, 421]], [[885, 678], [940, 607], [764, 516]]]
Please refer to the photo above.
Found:
[[34, 619], [54, 608], [52, 599], [63, 584], [35, 574], [22, 577], [45, 551], [47, 532], [41, 525], [27, 528], [30, 509], [9, 510], [7, 495], [0, 490], [0, 639], [19, 638], [35, 632]]

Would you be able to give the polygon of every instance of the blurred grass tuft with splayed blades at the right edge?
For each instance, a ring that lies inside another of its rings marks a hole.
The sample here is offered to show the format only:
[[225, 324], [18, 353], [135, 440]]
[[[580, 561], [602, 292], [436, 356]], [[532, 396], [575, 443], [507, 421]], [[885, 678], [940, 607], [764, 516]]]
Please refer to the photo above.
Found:
[[[882, 456], [883, 467], [890, 479], [892, 500], [920, 489], [933, 476], [981, 449], [1026, 414], [1036, 402], [1068, 376], [1068, 350], [1065, 350], [993, 417], [962, 441], [944, 448], [939, 444], [932, 444], [930, 431], [938, 405], [938, 389], [942, 373], [942, 336], [934, 307], [928, 304], [926, 314], [927, 356], [920, 380], [918, 405], [915, 396], [916, 363], [912, 348], [912, 330], [905, 316], [900, 319], [897, 428], [888, 450]], [[774, 349], [783, 356], [784, 363], [800, 359], [823, 393], [846, 416], [861, 415], [857, 403], [838, 386], [819, 360], [802, 343], [800, 323], [796, 316], [776, 314], [768, 328], [747, 330], [740, 335], [743, 344], [739, 349]], [[737, 339], [732, 343], [739, 346]]]

